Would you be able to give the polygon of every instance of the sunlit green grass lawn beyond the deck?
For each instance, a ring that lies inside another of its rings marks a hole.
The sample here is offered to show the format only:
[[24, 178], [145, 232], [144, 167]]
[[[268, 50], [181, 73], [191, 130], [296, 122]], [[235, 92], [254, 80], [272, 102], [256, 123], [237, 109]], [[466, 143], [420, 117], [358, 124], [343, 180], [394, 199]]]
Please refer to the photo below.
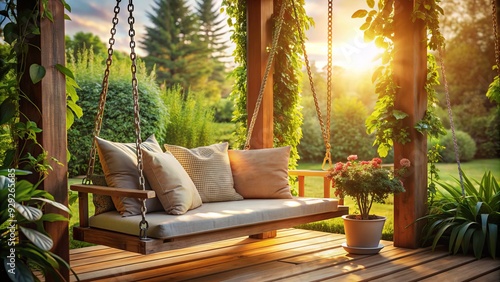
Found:
[[[462, 170], [466, 173], [469, 179], [481, 180], [483, 173], [490, 170], [497, 180], [500, 180], [500, 159], [491, 160], [474, 160], [467, 163], [462, 163]], [[440, 177], [442, 181], [453, 181], [453, 177], [458, 178], [458, 170], [456, 164], [438, 164], [440, 170]], [[299, 169], [321, 169], [320, 163], [304, 163], [299, 165]], [[81, 183], [81, 179], [72, 178], [69, 184]], [[307, 197], [323, 197], [323, 179], [318, 177], [306, 177], [305, 194]], [[89, 199], [92, 202], [92, 198]], [[345, 205], [349, 206], [350, 212], [355, 211], [355, 203], [352, 199], [345, 199]], [[78, 225], [78, 201], [71, 205], [73, 215], [70, 219], [69, 226]], [[387, 217], [384, 226], [382, 238], [384, 240], [392, 240], [394, 233], [394, 220], [393, 220], [393, 198], [389, 197], [386, 204], [374, 204], [372, 213]], [[94, 214], [94, 205], [89, 205], [89, 214]], [[344, 226], [342, 219], [334, 218], [330, 220], [319, 221], [299, 226], [305, 229], [314, 229], [332, 233], [344, 233]], [[70, 228], [70, 248], [80, 248], [89, 246], [85, 242], [80, 242], [72, 239], [72, 228]]]

